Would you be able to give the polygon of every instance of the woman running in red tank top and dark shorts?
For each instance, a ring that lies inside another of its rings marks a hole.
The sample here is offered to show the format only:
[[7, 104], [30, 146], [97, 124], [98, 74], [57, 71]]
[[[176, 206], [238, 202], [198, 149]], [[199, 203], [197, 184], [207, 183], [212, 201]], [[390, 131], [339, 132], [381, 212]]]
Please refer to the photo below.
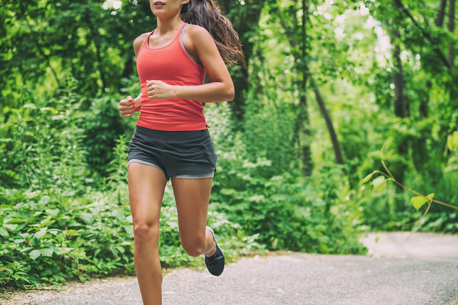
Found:
[[[158, 27], [133, 43], [142, 92], [121, 100], [119, 109], [122, 118], [141, 111], [128, 150], [134, 264], [143, 304], [157, 305], [159, 215], [170, 178], [181, 246], [190, 256], [204, 254], [211, 274], [223, 272], [223, 251], [206, 226], [216, 153], [202, 102], [232, 101], [226, 64], [245, 67], [245, 60], [237, 33], [213, 0], [149, 1]], [[206, 73], [211, 83], [204, 84]]]

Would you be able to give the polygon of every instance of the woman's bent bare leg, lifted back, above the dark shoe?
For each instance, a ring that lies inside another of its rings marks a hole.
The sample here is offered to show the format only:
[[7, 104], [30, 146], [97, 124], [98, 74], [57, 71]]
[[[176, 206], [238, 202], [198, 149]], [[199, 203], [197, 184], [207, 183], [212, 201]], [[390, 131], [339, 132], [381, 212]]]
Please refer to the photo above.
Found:
[[213, 178], [171, 180], [178, 212], [181, 246], [190, 256], [211, 256], [216, 251], [216, 245], [206, 226]]

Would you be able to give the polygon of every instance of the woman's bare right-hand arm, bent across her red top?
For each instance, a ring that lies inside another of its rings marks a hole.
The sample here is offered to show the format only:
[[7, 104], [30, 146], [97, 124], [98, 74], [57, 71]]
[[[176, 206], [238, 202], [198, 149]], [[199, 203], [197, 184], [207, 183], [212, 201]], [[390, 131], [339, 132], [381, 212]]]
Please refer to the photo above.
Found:
[[206, 29], [196, 25], [189, 25], [185, 37], [186, 33], [189, 35], [193, 48], [188, 52], [198, 55], [198, 59], [202, 62], [212, 82], [199, 86], [172, 86], [161, 80], [148, 80], [149, 99], [165, 100], [178, 97], [205, 103], [232, 101], [234, 83], [212, 36]]

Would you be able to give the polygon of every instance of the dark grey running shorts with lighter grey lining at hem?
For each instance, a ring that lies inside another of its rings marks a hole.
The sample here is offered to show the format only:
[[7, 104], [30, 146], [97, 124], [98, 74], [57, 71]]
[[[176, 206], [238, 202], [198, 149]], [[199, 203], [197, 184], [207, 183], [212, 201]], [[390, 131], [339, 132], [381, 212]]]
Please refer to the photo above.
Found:
[[127, 155], [127, 166], [138, 162], [158, 167], [167, 180], [209, 178], [216, 171], [215, 147], [208, 129], [164, 131], [137, 125]]

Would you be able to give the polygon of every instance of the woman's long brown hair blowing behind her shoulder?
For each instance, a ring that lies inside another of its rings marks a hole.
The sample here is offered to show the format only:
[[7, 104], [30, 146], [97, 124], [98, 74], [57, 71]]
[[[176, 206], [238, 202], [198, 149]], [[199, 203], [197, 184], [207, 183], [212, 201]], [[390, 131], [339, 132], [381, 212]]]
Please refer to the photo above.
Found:
[[[205, 28], [212, 35], [219, 54], [226, 64], [240, 62], [246, 69], [245, 55], [239, 35], [235, 32], [228, 18], [221, 14], [219, 5], [214, 0], [190, 0], [183, 5], [181, 20]], [[231, 57], [231, 54], [235, 57]]]

